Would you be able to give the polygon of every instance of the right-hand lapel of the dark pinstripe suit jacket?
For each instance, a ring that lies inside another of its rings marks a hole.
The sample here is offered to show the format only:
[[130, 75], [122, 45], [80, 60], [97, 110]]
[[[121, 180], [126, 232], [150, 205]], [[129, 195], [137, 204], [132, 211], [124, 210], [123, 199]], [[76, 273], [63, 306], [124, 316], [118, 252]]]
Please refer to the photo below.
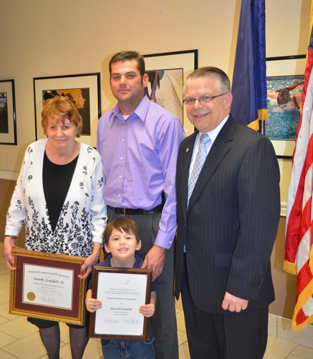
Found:
[[236, 122], [230, 116], [229, 119], [224, 124], [224, 126], [222, 127], [214, 143], [212, 144], [210, 152], [208, 153], [206, 160], [203, 164], [203, 167], [201, 169], [201, 172], [199, 174], [195, 188], [190, 196], [187, 213], [195, 204], [197, 198], [201, 195], [201, 192], [203, 191], [204, 187], [207, 185], [207, 182], [210, 180], [212, 174], [218, 168], [219, 164], [223, 160], [226, 153], [230, 150], [235, 126], [236, 126]]

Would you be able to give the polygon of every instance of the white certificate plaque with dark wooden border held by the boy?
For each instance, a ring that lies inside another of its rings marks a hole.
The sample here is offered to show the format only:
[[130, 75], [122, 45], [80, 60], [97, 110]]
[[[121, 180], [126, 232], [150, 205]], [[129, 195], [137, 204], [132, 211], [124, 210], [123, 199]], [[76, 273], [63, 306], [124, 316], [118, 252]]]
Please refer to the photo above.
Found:
[[148, 338], [148, 318], [139, 307], [150, 303], [152, 269], [95, 266], [92, 298], [102, 308], [90, 313], [89, 336], [111, 339]]

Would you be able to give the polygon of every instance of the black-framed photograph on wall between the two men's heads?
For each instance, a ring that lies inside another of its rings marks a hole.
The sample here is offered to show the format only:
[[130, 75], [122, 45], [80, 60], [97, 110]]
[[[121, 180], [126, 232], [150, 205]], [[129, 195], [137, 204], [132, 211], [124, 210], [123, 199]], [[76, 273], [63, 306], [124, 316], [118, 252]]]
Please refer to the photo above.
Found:
[[190, 135], [194, 126], [187, 119], [181, 90], [188, 74], [198, 69], [198, 50], [152, 53], [143, 57], [149, 75], [146, 95], [173, 113], [182, 123], [186, 135]]

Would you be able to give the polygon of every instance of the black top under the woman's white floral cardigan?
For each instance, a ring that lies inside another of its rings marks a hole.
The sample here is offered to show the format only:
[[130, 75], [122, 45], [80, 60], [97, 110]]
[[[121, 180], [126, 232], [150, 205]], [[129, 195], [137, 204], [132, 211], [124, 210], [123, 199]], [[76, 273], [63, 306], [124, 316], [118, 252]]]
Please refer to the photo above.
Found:
[[79, 155], [66, 165], [56, 165], [48, 159], [46, 153], [44, 155], [43, 187], [50, 225], [53, 232], [67, 197], [78, 156]]

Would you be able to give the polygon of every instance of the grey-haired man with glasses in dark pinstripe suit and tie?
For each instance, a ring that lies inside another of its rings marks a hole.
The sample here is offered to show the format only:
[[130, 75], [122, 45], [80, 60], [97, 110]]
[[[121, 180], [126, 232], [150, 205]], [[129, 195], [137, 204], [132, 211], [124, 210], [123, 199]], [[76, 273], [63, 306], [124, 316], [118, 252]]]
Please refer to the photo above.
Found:
[[275, 152], [229, 115], [222, 70], [191, 73], [184, 97], [197, 131], [179, 147], [175, 295], [182, 295], [191, 358], [261, 359], [280, 216]]

